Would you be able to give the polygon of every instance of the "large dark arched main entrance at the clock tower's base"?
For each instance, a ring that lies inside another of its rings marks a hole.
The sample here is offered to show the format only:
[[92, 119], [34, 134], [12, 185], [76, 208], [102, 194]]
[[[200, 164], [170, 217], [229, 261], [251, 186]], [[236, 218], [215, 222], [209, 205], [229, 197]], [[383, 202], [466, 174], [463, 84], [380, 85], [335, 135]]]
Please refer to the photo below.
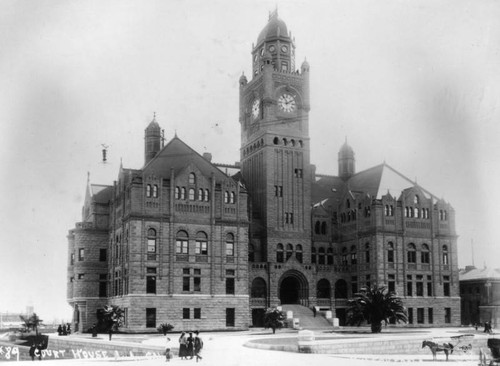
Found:
[[304, 274], [291, 269], [286, 271], [278, 282], [281, 304], [300, 304], [309, 306], [309, 283]]

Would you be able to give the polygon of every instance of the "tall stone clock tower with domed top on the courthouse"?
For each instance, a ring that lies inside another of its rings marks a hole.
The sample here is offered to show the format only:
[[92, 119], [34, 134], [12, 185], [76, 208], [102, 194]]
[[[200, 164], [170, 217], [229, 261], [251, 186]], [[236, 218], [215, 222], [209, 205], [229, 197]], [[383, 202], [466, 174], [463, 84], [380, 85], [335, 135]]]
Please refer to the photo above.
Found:
[[[251, 197], [250, 250], [255, 262], [307, 271], [311, 253], [309, 64], [295, 69], [295, 42], [277, 11], [252, 47], [252, 77], [240, 78], [241, 172]], [[269, 271], [273, 271], [268, 266]], [[271, 273], [271, 304], [308, 302]], [[307, 274], [302, 273], [304, 282]], [[286, 277], [286, 276], [285, 276]], [[281, 279], [280, 279], [281, 278]], [[273, 282], [275, 282], [273, 284]], [[293, 299], [292, 299], [293, 297]]]

